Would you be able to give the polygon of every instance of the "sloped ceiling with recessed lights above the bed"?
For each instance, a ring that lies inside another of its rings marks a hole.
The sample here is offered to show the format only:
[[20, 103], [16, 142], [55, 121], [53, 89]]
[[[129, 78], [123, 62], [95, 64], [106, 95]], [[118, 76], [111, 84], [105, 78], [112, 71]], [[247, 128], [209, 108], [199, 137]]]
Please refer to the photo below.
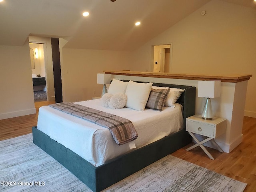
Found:
[[[134, 50], [209, 1], [4, 0], [0, 45], [22, 45], [34, 35], [65, 38], [66, 48]], [[225, 1], [256, 8], [253, 0]]]

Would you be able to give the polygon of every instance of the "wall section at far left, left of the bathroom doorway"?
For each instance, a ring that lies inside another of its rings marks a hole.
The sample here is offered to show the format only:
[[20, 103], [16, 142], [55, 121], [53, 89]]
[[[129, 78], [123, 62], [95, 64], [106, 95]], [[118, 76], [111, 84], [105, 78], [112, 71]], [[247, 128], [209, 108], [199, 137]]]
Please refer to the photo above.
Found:
[[0, 46], [0, 119], [36, 113], [28, 39]]

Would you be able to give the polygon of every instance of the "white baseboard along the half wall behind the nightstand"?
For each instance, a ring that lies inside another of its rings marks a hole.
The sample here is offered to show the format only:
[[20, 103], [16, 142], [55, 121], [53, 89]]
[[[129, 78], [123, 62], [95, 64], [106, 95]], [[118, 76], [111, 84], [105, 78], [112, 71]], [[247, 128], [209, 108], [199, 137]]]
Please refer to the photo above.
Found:
[[[199, 141], [204, 140], [206, 137], [202, 136], [202, 135], [198, 135], [196, 134], [196, 138]], [[242, 143], [243, 140], [243, 135], [241, 134], [238, 138], [236, 138], [236, 140], [234, 140], [234, 142], [232, 142], [231, 144], [226, 144], [226, 143], [222, 143], [219, 142], [217, 140], [215, 140], [215, 142], [218, 144], [218, 146], [220, 146], [220, 148], [226, 152], [226, 153], [230, 153], [234, 148], [236, 148], [240, 143]], [[193, 139], [193, 142], [195, 142], [195, 140]], [[195, 142], [196, 143], [196, 142]], [[214, 148], [217, 149], [210, 141], [206, 142], [203, 144], [204, 146], [210, 147], [210, 148]]]

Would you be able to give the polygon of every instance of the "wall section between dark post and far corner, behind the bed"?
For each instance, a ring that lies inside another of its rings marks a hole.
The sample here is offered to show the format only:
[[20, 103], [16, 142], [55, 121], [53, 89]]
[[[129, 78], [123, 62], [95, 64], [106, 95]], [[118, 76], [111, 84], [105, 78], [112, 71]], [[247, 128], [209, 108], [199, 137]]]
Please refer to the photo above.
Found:
[[64, 102], [90, 100], [101, 96], [103, 85], [97, 84], [97, 73], [129, 68], [129, 52], [70, 48], [62, 48], [61, 52]]

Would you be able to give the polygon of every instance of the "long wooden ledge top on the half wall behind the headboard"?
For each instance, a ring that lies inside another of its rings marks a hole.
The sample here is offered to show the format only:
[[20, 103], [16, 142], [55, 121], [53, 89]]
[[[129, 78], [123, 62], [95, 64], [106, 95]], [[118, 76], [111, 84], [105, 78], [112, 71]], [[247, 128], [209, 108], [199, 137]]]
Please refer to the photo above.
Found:
[[160, 73], [160, 72], [140, 72], [140, 71], [104, 71], [107, 74], [113, 75], [127, 75], [127, 76], [141, 76], [141, 77], [157, 77], [170, 79], [189, 79], [189, 80], [220, 80], [222, 82], [237, 83], [249, 80], [252, 75], [246, 74], [232, 74], [232, 75], [202, 75], [202, 74], [174, 74], [174, 73]]

